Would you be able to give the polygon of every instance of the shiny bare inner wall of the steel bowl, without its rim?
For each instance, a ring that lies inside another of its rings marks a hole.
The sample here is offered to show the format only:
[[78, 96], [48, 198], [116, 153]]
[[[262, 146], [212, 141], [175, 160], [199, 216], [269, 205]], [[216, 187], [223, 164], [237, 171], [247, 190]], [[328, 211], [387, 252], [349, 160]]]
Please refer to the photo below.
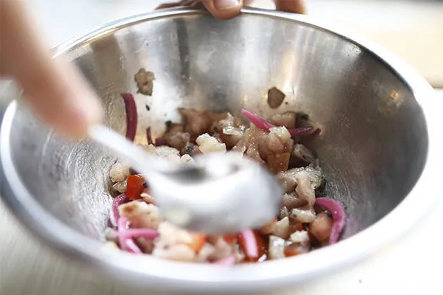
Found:
[[[347, 211], [343, 237], [392, 211], [425, 164], [425, 118], [404, 81], [365, 48], [301, 22], [176, 15], [110, 29], [63, 54], [103, 99], [105, 123], [121, 133], [126, 116], [120, 93], [134, 94], [137, 143], [146, 143], [147, 126], [155, 137], [166, 121], [178, 121], [178, 107], [233, 114], [244, 107], [262, 117], [308, 114], [321, 129], [307, 145], [326, 175], [324, 195]], [[141, 67], [155, 73], [153, 96], [137, 93], [134, 74]], [[286, 95], [277, 109], [267, 104], [273, 86]], [[62, 140], [24, 107], [12, 126], [13, 163], [27, 190], [60, 221], [100, 239], [116, 157], [92, 143]]]

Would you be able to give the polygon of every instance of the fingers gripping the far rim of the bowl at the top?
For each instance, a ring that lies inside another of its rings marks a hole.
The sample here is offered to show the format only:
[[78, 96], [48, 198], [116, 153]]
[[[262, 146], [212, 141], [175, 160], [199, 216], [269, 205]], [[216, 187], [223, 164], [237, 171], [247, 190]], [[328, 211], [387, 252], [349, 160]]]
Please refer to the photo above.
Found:
[[[226, 19], [238, 15], [243, 6], [248, 6], [253, 1], [254, 0], [182, 0], [175, 3], [163, 4], [158, 8], [203, 5], [214, 17]], [[278, 11], [306, 13], [304, 0], [274, 0], [274, 3]]]

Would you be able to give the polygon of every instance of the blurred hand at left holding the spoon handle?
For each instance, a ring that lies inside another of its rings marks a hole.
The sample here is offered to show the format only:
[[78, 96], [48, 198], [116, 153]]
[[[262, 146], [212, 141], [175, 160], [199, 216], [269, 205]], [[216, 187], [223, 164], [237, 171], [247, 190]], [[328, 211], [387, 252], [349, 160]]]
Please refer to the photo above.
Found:
[[77, 69], [51, 58], [23, 1], [0, 1], [0, 74], [23, 87], [25, 103], [66, 136], [85, 136], [101, 120], [101, 105]]

